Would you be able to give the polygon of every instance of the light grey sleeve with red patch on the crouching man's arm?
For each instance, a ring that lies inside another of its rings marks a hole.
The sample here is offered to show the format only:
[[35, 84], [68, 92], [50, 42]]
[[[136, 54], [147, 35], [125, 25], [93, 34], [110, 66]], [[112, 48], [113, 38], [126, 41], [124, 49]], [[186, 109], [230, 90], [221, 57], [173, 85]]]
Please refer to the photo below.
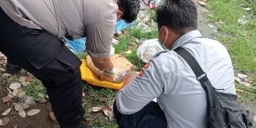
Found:
[[152, 59], [133, 82], [118, 92], [117, 109], [122, 114], [133, 114], [161, 93], [163, 93], [163, 73], [157, 61]]

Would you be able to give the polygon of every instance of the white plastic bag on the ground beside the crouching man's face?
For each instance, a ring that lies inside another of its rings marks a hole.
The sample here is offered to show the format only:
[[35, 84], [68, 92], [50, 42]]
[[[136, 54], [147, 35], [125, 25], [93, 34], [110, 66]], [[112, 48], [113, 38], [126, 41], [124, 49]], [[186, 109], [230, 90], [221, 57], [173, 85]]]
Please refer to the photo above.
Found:
[[153, 58], [154, 54], [163, 50], [157, 38], [144, 41], [137, 49], [137, 55], [144, 62], [148, 62]]

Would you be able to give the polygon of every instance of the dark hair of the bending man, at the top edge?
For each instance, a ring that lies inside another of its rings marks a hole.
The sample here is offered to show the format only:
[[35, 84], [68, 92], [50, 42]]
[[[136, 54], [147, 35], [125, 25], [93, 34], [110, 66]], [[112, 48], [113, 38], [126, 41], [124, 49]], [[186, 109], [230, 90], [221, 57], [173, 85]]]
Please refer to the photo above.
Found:
[[123, 11], [122, 19], [125, 20], [126, 23], [131, 23], [133, 20], [136, 20], [140, 8], [139, 0], [119, 0], [117, 4], [120, 6], [121, 11]]

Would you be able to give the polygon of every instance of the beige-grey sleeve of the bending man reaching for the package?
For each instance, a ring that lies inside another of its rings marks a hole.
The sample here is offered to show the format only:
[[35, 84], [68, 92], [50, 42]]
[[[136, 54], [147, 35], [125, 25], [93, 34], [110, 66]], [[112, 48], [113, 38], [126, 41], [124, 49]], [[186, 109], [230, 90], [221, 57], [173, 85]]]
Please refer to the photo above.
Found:
[[115, 19], [105, 19], [87, 25], [86, 48], [90, 56], [105, 56], [109, 54], [115, 22]]

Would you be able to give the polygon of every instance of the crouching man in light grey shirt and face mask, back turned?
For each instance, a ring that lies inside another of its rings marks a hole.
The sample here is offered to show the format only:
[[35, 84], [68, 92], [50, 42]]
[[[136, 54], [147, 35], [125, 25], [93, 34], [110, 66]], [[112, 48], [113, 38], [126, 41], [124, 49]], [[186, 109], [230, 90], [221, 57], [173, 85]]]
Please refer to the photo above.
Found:
[[[205, 128], [206, 92], [187, 62], [175, 53], [184, 47], [197, 59], [212, 86], [236, 93], [227, 49], [197, 30], [197, 8], [191, 0], [167, 0], [157, 8], [156, 53], [139, 74], [133, 72], [118, 92], [114, 115], [122, 128]], [[151, 102], [157, 98], [157, 102]]]

